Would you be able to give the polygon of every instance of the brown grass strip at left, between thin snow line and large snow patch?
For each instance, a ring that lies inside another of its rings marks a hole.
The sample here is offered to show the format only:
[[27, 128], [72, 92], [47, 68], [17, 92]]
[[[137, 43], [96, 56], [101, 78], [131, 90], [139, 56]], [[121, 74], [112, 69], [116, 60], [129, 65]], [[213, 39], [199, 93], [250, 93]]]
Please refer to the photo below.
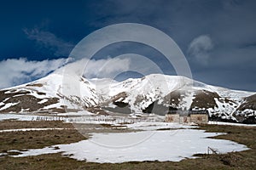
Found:
[[0, 133], [0, 152], [44, 148], [53, 144], [70, 144], [83, 139], [86, 138], [75, 129]]

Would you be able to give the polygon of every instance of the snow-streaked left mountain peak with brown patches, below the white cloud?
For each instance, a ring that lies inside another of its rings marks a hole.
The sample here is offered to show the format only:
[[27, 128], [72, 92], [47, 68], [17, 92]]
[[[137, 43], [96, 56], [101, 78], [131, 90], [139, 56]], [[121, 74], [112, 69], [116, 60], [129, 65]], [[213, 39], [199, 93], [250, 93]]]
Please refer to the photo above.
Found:
[[34, 82], [1, 90], [0, 112], [65, 112], [97, 105], [94, 84], [83, 77], [66, 76], [65, 79], [62, 74], [52, 73]]

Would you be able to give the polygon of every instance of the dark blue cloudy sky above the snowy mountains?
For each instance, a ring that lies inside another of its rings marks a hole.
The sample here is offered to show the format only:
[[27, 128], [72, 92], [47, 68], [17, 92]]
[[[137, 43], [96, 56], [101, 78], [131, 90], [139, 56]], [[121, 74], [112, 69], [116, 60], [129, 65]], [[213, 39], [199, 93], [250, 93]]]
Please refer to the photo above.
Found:
[[[172, 37], [195, 80], [256, 91], [253, 0], [9, 0], [1, 3], [0, 21], [0, 88], [45, 77], [66, 65], [75, 45], [93, 31], [113, 24], [139, 23]], [[114, 59], [121, 54], [147, 56], [161, 66], [163, 73], [176, 74], [154, 48], [119, 42], [96, 53], [91, 77], [103, 61], [112, 60], [112, 70], [105, 71], [109, 74], [115, 68], [122, 71], [121, 61], [126, 70], [137, 64]], [[137, 66], [150, 72], [147, 65]], [[139, 76], [128, 71], [119, 79]]]

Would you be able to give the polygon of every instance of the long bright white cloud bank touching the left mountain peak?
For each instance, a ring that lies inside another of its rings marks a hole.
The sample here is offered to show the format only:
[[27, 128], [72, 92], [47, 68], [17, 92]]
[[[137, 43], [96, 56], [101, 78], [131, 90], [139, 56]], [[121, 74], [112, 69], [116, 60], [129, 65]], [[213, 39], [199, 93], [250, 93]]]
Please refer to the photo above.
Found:
[[83, 73], [86, 78], [113, 77], [122, 71], [129, 70], [131, 63], [130, 59], [108, 58], [80, 59], [67, 64], [70, 60], [61, 58], [30, 61], [20, 58], [0, 61], [0, 88], [9, 88], [30, 82], [33, 79], [45, 77], [52, 71], [63, 73], [63, 69], [68, 71], [68, 74], [74, 73], [81, 76]]

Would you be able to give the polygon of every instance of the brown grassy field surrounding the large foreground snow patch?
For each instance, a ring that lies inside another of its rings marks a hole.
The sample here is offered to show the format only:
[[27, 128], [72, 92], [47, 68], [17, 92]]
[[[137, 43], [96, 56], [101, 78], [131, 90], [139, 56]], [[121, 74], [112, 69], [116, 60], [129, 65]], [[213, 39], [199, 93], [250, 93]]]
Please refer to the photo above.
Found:
[[[47, 130], [33, 132], [0, 133], [1, 153], [7, 150], [22, 150], [25, 148], [43, 148], [52, 144], [68, 144], [82, 139], [72, 124], [62, 122], [1, 122], [0, 129], [5, 127], [67, 127], [67, 130]], [[71, 128], [71, 129], [70, 129]], [[119, 164], [90, 163], [76, 161], [59, 154], [28, 156], [14, 158], [0, 156], [0, 169], [255, 169], [256, 167], [256, 127], [235, 127], [204, 125], [199, 127], [207, 132], [226, 133], [215, 139], [229, 139], [240, 144], [246, 144], [252, 150], [232, 152], [223, 155], [199, 155], [197, 159], [183, 161], [143, 161], [125, 162]], [[168, 150], [166, 150], [168, 151]], [[15, 154], [15, 153], [13, 153]]]

